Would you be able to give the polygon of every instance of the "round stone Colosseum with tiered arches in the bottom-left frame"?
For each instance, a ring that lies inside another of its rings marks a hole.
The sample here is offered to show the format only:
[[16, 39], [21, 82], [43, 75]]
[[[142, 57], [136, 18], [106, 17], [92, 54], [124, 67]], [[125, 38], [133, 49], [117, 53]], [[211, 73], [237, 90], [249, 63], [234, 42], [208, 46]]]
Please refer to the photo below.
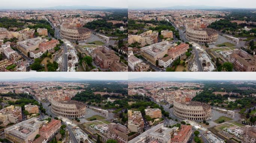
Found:
[[51, 100], [51, 111], [55, 115], [68, 117], [68, 118], [79, 118], [85, 114], [86, 106], [83, 102], [79, 101], [55, 101]]

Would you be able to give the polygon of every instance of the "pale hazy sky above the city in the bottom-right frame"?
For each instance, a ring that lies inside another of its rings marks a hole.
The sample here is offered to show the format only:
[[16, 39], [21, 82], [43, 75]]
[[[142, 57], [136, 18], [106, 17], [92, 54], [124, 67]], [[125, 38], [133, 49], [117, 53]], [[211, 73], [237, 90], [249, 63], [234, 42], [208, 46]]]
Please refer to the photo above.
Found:
[[140, 77], [181, 77], [213, 80], [256, 80], [253, 72], [129, 72], [129, 79]]

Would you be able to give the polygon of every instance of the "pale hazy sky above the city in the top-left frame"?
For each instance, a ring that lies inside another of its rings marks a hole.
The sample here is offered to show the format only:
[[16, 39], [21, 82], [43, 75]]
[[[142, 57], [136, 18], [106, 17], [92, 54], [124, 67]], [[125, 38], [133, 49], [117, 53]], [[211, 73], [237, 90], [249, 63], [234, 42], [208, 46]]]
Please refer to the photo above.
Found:
[[81, 5], [124, 8], [128, 7], [127, 0], [0, 0], [1, 9]]

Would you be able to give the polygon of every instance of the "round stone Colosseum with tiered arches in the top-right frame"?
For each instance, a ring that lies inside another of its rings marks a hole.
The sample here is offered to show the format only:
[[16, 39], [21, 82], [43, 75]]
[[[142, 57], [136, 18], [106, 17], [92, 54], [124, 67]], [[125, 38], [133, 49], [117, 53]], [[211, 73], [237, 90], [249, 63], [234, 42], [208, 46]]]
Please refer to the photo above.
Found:
[[212, 44], [217, 41], [218, 32], [211, 28], [188, 24], [186, 25], [186, 39], [196, 43]]

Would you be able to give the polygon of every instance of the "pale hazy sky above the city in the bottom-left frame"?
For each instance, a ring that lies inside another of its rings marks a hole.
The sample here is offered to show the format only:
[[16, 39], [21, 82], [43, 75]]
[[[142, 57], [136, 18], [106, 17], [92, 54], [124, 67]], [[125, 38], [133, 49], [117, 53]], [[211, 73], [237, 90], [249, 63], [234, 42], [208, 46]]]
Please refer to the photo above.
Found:
[[24, 79], [29, 77], [65, 77], [95, 80], [128, 80], [126, 72], [1, 72], [1, 79]]

